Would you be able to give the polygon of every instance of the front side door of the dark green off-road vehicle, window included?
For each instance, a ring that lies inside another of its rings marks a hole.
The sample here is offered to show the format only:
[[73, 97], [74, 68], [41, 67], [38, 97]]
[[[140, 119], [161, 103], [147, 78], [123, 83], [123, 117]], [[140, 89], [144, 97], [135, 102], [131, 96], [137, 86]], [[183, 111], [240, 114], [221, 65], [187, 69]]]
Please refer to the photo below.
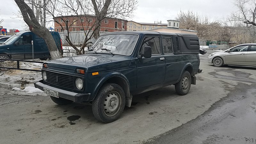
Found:
[[[140, 58], [144, 53], [144, 47], [150, 46], [151, 58]], [[160, 46], [159, 36], [147, 36], [144, 38], [137, 61], [137, 88], [143, 88], [155, 84], [161, 84], [165, 77], [165, 57]]]

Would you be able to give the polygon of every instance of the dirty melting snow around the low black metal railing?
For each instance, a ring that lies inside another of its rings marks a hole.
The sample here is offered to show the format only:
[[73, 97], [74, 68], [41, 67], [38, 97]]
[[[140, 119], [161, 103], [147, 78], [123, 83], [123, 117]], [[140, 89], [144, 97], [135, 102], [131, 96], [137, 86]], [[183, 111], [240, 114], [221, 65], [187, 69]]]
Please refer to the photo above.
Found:
[[[17, 62], [4, 61], [0, 62], [0, 66], [17, 68]], [[42, 68], [42, 64], [20, 62], [20, 68], [40, 70]], [[2, 89], [5, 89], [8, 94], [44, 95], [43, 91], [34, 87], [34, 83], [41, 79], [41, 72], [16, 69], [0, 69], [0, 86]]]

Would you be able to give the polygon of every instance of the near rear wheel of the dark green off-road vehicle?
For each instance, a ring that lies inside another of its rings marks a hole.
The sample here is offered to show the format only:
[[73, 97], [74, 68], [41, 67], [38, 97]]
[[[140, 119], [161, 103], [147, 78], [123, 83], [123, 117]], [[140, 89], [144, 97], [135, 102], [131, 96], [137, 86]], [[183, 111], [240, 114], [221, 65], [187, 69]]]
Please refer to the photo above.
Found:
[[191, 86], [191, 75], [188, 71], [184, 71], [180, 81], [175, 84], [175, 91], [180, 95], [186, 95]]

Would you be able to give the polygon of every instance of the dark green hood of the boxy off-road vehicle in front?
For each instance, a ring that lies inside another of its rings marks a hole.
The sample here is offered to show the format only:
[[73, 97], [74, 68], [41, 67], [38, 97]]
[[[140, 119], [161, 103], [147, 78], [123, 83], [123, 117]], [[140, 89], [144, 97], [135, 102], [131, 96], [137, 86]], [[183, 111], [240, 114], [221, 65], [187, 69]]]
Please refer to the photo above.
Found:
[[128, 67], [131, 58], [128, 56], [112, 55], [112, 54], [84, 54], [73, 57], [65, 57], [50, 60], [48, 68], [62, 68], [68, 70], [76, 70], [76, 68], [85, 69], [86, 73]]

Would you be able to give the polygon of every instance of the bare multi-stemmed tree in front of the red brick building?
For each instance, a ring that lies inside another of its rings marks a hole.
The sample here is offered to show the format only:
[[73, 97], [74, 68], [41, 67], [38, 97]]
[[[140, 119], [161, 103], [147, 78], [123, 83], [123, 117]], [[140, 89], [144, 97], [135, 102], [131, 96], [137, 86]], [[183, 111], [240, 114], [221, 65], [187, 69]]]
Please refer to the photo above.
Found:
[[[27, 1], [30, 2], [30, 0]], [[82, 54], [85, 47], [92, 43], [90, 41], [92, 37], [97, 38], [100, 35], [100, 26], [103, 20], [131, 17], [137, 4], [136, 0], [47, 0], [45, 2], [47, 6], [36, 5], [36, 7], [44, 9], [46, 15], [53, 17], [55, 23], [59, 24], [63, 30], [68, 31], [65, 40], [78, 54]], [[70, 39], [69, 32], [70, 28], [84, 17], [87, 21], [82, 24], [85, 38], [82, 46], [77, 47]], [[92, 17], [96, 18], [93, 22], [89, 21]]]

